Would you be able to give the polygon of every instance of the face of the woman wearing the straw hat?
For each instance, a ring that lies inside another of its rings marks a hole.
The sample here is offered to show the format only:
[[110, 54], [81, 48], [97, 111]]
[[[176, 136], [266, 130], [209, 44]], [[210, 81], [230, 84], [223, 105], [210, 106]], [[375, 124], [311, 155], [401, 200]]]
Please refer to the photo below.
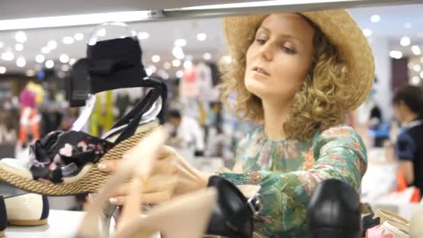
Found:
[[246, 54], [244, 82], [262, 100], [286, 103], [312, 63], [312, 26], [296, 13], [266, 17]]

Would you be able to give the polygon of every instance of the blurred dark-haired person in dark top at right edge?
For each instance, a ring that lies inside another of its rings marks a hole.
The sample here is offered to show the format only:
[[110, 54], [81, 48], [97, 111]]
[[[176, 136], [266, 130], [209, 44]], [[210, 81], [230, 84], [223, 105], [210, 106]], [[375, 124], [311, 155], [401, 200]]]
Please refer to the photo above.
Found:
[[405, 86], [394, 95], [394, 116], [401, 123], [395, 145], [399, 172], [409, 186], [423, 191], [423, 90]]

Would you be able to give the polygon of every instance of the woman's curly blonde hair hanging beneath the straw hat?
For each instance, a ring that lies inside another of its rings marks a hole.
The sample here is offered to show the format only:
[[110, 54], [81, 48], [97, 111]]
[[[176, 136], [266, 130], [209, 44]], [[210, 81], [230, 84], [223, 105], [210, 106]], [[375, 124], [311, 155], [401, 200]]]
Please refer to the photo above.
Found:
[[[301, 15], [303, 16], [303, 15]], [[304, 17], [304, 16], [303, 16]], [[312, 65], [303, 84], [294, 95], [291, 115], [283, 125], [288, 138], [308, 140], [318, 129], [324, 130], [345, 121], [347, 106], [351, 100], [348, 68], [326, 35], [310, 21], [315, 29]], [[250, 44], [255, 32], [248, 36]], [[221, 99], [230, 106], [241, 120], [262, 122], [264, 113], [259, 97], [250, 93], [244, 84], [246, 52], [248, 47], [232, 52], [232, 63], [219, 63], [222, 72]], [[234, 102], [230, 97], [235, 93]], [[282, 126], [282, 125], [281, 125]]]

